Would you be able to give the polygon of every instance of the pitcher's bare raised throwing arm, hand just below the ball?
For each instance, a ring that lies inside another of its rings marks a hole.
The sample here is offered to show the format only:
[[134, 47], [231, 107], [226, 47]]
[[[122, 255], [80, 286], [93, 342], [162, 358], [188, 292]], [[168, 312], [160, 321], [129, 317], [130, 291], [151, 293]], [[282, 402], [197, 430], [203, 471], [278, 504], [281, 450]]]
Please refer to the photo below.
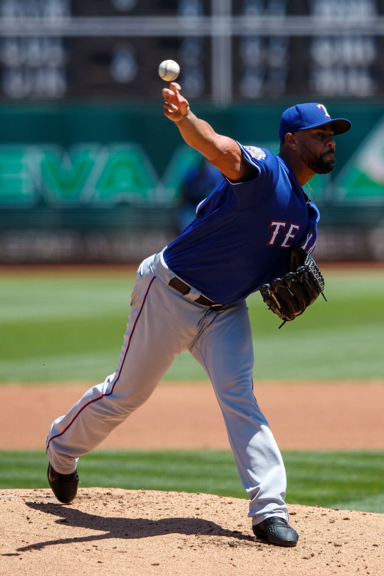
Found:
[[180, 85], [171, 82], [164, 88], [164, 113], [172, 120], [185, 142], [199, 150], [208, 162], [216, 166], [230, 180], [247, 180], [258, 174], [242, 157], [237, 143], [227, 136], [216, 134], [205, 120], [200, 120], [189, 109], [188, 101], [180, 94]]

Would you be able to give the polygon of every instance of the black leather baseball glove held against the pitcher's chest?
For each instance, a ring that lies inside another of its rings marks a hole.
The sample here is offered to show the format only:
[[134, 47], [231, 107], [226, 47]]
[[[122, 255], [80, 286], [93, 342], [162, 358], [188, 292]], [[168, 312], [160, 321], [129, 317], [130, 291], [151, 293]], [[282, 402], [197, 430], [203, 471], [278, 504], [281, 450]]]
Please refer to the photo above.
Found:
[[295, 320], [313, 304], [318, 295], [324, 300], [324, 278], [312, 256], [303, 248], [291, 252], [290, 272], [283, 278], [275, 278], [271, 284], [260, 286], [265, 304], [286, 322]]

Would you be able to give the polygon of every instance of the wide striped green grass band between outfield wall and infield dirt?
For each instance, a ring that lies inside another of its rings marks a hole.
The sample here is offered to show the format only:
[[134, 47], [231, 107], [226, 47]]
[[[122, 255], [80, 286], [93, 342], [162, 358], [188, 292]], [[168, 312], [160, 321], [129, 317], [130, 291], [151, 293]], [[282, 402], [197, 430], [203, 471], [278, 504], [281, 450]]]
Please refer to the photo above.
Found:
[[[3, 275], [0, 382], [104, 380], [119, 359], [133, 282], [113, 268]], [[384, 270], [328, 272], [325, 293], [327, 303], [281, 330], [260, 294], [248, 298], [255, 380], [384, 377]], [[202, 379], [188, 352], [164, 378]]]

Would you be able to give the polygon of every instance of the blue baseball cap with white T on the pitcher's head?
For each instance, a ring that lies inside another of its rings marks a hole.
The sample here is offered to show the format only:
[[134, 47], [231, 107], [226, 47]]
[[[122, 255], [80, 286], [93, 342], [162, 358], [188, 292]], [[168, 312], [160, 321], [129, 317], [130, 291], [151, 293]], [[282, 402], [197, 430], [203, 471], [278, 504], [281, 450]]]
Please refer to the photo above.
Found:
[[324, 104], [317, 102], [296, 104], [282, 113], [279, 128], [280, 142], [284, 140], [287, 132], [293, 134], [298, 130], [315, 128], [328, 123], [332, 124], [334, 136], [344, 134], [352, 126], [351, 122], [345, 118], [330, 118]]

